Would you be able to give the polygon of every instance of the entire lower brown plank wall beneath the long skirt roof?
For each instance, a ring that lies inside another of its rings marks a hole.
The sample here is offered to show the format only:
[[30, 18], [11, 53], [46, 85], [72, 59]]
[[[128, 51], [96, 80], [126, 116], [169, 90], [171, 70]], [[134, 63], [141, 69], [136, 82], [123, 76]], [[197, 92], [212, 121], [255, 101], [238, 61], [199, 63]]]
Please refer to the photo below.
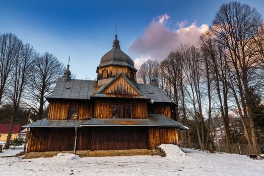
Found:
[[[31, 128], [28, 152], [74, 150], [75, 128]], [[172, 127], [81, 127], [76, 150], [151, 149], [178, 144]]]

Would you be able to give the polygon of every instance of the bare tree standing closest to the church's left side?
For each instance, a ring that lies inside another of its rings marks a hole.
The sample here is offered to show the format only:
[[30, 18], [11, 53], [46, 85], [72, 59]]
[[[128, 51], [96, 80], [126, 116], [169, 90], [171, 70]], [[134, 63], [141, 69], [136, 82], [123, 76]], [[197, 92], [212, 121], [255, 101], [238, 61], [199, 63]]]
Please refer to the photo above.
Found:
[[43, 118], [45, 97], [52, 93], [56, 81], [63, 74], [63, 70], [63, 64], [48, 52], [41, 54], [34, 60], [27, 105], [37, 114], [37, 118]]

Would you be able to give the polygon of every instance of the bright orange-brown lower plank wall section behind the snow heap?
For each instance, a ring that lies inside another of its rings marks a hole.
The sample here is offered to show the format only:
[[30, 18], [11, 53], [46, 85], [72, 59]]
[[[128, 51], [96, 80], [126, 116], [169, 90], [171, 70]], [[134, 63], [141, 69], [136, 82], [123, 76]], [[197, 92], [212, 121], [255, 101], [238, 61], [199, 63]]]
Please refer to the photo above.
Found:
[[178, 130], [175, 127], [150, 127], [149, 139], [150, 148], [156, 148], [160, 144], [178, 145]]

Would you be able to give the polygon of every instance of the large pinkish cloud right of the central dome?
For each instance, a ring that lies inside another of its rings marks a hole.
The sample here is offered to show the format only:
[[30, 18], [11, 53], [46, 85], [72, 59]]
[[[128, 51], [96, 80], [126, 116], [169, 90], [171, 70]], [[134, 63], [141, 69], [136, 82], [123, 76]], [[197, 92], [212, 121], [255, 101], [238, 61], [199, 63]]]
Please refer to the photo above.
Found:
[[158, 16], [145, 29], [143, 36], [130, 44], [130, 52], [138, 55], [135, 59], [137, 67], [146, 58], [163, 60], [181, 43], [197, 44], [200, 35], [209, 28], [206, 24], [196, 26], [195, 22], [186, 26], [187, 21], [183, 21], [177, 23], [178, 29], [170, 30], [166, 26], [169, 18], [167, 14]]

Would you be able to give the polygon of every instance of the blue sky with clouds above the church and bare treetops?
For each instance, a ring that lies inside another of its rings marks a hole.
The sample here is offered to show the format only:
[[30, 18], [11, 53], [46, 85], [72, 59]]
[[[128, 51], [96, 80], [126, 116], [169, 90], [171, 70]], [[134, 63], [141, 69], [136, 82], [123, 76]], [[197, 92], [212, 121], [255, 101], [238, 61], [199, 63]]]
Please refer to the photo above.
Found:
[[[112, 48], [115, 24], [121, 49], [140, 65], [146, 58], [162, 60], [168, 52], [162, 46], [192, 41], [227, 2], [0, 0], [0, 33], [15, 33], [38, 52], [50, 52], [65, 64], [71, 55], [70, 70], [77, 78], [94, 79], [101, 57]], [[264, 15], [264, 1], [239, 2]], [[173, 40], [161, 39], [171, 35]], [[153, 37], [157, 45], [144, 36]]]

